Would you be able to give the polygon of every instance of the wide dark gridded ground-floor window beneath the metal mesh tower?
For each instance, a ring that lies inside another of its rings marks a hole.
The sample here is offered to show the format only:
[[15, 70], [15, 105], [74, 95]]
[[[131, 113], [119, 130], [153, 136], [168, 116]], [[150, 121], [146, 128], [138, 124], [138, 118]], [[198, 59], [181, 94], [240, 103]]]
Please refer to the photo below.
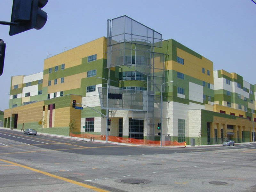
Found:
[[143, 139], [144, 120], [129, 118], [129, 138]]

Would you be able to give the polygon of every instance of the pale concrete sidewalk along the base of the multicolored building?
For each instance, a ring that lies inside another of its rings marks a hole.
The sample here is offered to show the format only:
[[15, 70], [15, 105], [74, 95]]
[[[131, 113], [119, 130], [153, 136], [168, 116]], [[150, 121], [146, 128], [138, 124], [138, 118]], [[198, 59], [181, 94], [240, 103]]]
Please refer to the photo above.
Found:
[[[4, 130], [11, 130], [10, 128], [5, 128], [5, 127], [0, 127], [0, 129]], [[13, 129], [12, 131], [17, 131], [21, 132], [19, 129]], [[59, 137], [59, 138], [65, 138], [65, 139], [72, 139], [72, 140], [83, 140], [85, 142], [90, 141], [90, 142], [96, 142], [96, 143], [106, 143], [105, 140], [90, 140], [88, 138], [81, 138], [81, 137], [70, 137], [70, 136], [65, 136], [65, 135], [56, 135], [56, 134], [50, 134], [50, 133], [39, 133], [37, 132], [38, 135], [48, 135], [48, 136], [53, 136], [53, 137]], [[128, 145], [128, 146], [139, 146], [139, 147], [155, 147], [155, 146], [145, 146], [145, 145], [136, 145], [136, 144], [129, 144], [129, 143], [118, 143], [118, 142], [113, 142], [113, 141], [108, 141], [110, 144], [115, 144], [115, 145]], [[254, 142], [245, 142], [245, 143], [235, 143], [235, 145], [245, 145], [245, 144], [250, 144]], [[223, 147], [222, 144], [214, 144], [214, 145], [195, 145], [195, 147], [214, 147], [214, 146], [219, 146]], [[190, 145], [187, 145], [186, 148], [191, 147]], [[193, 146], [194, 147], [194, 146]], [[185, 148], [185, 146], [163, 146], [163, 148]]]

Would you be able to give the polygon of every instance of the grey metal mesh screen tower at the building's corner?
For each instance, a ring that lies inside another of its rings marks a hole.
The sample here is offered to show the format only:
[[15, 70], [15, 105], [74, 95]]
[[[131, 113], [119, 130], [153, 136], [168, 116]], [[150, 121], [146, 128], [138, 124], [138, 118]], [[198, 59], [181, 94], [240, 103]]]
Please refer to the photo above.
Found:
[[[162, 35], [125, 15], [108, 20], [107, 25], [107, 68], [135, 67], [135, 71], [147, 76], [147, 91], [126, 90], [127, 92], [125, 92], [126, 98], [135, 98], [136, 102], [122, 101], [122, 105], [110, 102], [109, 108], [117, 109], [114, 106], [118, 105], [118, 110], [146, 112], [147, 130], [144, 130], [144, 136], [147, 136], [148, 140], [154, 140], [155, 125], [160, 118], [160, 95], [156, 95], [156, 92], [161, 91], [161, 84], [164, 83], [164, 54], [154, 52], [154, 47], [162, 47]], [[101, 108], [104, 108], [103, 98], [106, 98], [104, 93], [106, 91], [103, 90], [104, 88], [99, 89]], [[114, 92], [114, 90], [112, 91]], [[140, 92], [146, 92], [146, 95]], [[128, 96], [129, 94], [131, 96]], [[139, 95], [143, 97], [139, 97]], [[139, 98], [142, 100], [139, 101]]]

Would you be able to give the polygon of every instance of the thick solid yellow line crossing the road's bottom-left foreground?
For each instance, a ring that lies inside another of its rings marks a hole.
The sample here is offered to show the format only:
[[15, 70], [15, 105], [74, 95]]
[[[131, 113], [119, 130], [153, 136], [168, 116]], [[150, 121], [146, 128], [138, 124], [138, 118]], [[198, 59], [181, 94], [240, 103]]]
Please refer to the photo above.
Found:
[[57, 175], [53, 175], [51, 173], [47, 173], [47, 172], [44, 172], [44, 171], [40, 171], [38, 169], [34, 169], [34, 168], [31, 168], [31, 167], [27, 167], [25, 165], [21, 165], [21, 164], [17, 164], [17, 163], [14, 163], [14, 162], [11, 162], [11, 161], [6, 161], [4, 159], [0, 159], [0, 161], [3, 161], [5, 163], [10, 163], [10, 164], [13, 164], [13, 165], [16, 165], [16, 166], [20, 166], [20, 167], [23, 167], [25, 169], [29, 169], [31, 171], [34, 171], [34, 172], [38, 172], [38, 173], [42, 173], [44, 175], [47, 175], [47, 176], [50, 176], [50, 177], [53, 177], [55, 179], [59, 179], [59, 180], [63, 180], [63, 181], [66, 181], [66, 182], [69, 182], [69, 183], [72, 183], [72, 184], [75, 184], [75, 185], [79, 185], [79, 186], [82, 186], [82, 187], [85, 187], [85, 188], [88, 188], [88, 189], [92, 189], [94, 191], [98, 191], [98, 192], [109, 192], [109, 191], [106, 191], [104, 189], [100, 189], [100, 188], [96, 188], [96, 187], [93, 187], [91, 185], [86, 185], [84, 183], [80, 183], [80, 182], [77, 182], [77, 181], [74, 181], [74, 180], [70, 180], [70, 179], [67, 179], [65, 177], [60, 177], [60, 176], [57, 176]]

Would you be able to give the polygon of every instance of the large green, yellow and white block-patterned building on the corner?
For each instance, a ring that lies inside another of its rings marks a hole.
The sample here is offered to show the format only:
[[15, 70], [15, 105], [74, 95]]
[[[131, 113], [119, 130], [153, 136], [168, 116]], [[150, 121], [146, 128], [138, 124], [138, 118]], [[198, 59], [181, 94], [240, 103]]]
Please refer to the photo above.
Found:
[[[107, 37], [45, 59], [43, 72], [13, 76], [4, 127], [69, 135], [73, 122], [75, 134], [200, 145], [255, 141], [255, 90], [122, 16], [108, 20]], [[73, 108], [73, 100], [83, 109]]]

